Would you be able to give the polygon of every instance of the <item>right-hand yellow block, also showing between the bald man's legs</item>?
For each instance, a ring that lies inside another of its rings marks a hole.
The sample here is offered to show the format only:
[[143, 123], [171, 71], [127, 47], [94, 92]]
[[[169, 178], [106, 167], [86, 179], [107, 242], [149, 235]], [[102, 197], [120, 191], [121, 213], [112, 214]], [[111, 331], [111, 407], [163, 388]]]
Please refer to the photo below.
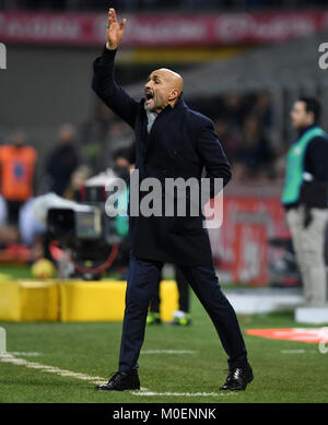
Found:
[[[65, 282], [60, 283], [60, 320], [121, 321], [125, 309], [126, 282]], [[172, 319], [177, 309], [177, 288], [174, 281], [161, 282], [161, 317]]]

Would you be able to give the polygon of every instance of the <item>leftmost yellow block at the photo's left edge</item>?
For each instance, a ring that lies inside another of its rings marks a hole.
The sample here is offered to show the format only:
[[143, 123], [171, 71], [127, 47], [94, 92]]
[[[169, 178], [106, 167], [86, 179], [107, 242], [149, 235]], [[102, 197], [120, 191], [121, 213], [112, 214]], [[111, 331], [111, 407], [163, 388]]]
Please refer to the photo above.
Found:
[[59, 291], [56, 282], [0, 282], [0, 320], [58, 320]]

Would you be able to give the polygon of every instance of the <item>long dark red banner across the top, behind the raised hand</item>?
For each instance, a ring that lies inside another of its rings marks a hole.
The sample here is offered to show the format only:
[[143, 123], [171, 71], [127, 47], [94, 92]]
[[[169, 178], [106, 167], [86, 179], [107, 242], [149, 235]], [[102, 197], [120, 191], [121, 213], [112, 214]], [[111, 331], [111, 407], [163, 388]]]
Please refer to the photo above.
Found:
[[[284, 42], [328, 28], [327, 11], [133, 14], [127, 47], [235, 45]], [[104, 44], [106, 13], [0, 12], [0, 42], [95, 46]]]

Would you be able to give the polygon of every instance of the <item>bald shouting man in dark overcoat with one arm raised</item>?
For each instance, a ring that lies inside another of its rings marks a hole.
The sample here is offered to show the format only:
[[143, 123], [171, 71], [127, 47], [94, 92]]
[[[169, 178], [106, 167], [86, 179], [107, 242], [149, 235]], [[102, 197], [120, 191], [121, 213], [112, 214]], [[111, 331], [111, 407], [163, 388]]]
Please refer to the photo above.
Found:
[[[136, 170], [139, 181], [156, 178], [161, 188], [168, 178], [201, 181], [203, 168], [210, 179], [210, 198], [215, 196], [215, 179], [223, 186], [231, 167], [218, 140], [212, 121], [187, 107], [183, 101], [183, 78], [167, 69], [153, 71], [140, 102], [130, 97], [114, 79], [114, 60], [124, 37], [126, 20], [117, 22], [108, 13], [107, 44], [94, 62], [93, 90], [102, 101], [136, 132]], [[221, 389], [244, 390], [253, 380], [251, 367], [235, 311], [221, 292], [203, 215], [154, 214], [132, 216], [130, 186], [130, 263], [126, 310], [118, 371], [98, 390], [139, 389], [138, 358], [144, 339], [148, 307], [165, 262], [179, 265], [202, 303], [229, 355], [229, 375]], [[191, 189], [192, 192], [192, 189]], [[192, 193], [186, 196], [187, 203]], [[161, 197], [161, 194], [160, 194]], [[175, 203], [174, 198], [174, 203]]]

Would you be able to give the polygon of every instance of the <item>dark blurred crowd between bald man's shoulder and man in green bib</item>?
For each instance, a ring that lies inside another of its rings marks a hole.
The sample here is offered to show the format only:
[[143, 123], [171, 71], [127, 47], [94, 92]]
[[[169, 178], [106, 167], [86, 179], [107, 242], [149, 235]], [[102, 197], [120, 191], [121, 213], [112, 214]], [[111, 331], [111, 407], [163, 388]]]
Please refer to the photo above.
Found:
[[[268, 92], [226, 94], [214, 99], [212, 117], [219, 139], [233, 166], [234, 182], [265, 182], [279, 178], [277, 160], [284, 146], [272, 143], [273, 109]], [[214, 111], [214, 113], [213, 113]]]

